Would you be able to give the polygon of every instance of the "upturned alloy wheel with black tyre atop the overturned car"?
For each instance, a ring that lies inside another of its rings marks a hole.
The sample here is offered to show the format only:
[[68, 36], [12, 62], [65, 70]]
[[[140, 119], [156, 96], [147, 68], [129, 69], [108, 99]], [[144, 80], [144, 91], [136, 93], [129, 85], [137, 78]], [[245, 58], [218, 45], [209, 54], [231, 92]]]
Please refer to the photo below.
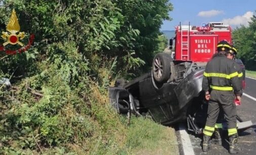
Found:
[[156, 82], [163, 84], [170, 78], [172, 58], [167, 53], [158, 53], [153, 59], [153, 76]]

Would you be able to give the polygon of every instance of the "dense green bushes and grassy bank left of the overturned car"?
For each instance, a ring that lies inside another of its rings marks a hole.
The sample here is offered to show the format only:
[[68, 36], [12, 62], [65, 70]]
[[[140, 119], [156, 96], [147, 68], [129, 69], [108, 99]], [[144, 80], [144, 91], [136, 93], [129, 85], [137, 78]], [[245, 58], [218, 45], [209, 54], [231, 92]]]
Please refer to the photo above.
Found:
[[15, 9], [22, 42], [35, 35], [27, 52], [0, 53], [0, 78], [13, 86], [0, 86], [0, 154], [176, 154], [171, 128], [135, 117], [127, 127], [107, 94], [116, 78], [147, 70], [161, 50], [167, 0], [0, 3], [1, 31]]

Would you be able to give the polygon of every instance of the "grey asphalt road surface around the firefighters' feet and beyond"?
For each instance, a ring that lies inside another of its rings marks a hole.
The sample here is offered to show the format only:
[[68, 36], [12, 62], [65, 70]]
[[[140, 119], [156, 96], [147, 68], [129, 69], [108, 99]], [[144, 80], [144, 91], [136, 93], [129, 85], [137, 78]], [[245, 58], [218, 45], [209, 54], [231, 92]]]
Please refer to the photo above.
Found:
[[[244, 93], [256, 98], [256, 80], [246, 78], [246, 89]], [[252, 123], [256, 123], [256, 101], [242, 96], [242, 104], [237, 106], [237, 113], [243, 121], [251, 120]], [[223, 145], [218, 146], [212, 144], [212, 148], [209, 152], [202, 152], [201, 142], [202, 137], [195, 137], [189, 135], [194, 154], [229, 154], [229, 144], [226, 140], [223, 140]], [[227, 138], [227, 137], [226, 137]], [[228, 140], [228, 138], [227, 138]], [[239, 146], [242, 148], [238, 154], [256, 154], [256, 126], [247, 129], [240, 133]]]

